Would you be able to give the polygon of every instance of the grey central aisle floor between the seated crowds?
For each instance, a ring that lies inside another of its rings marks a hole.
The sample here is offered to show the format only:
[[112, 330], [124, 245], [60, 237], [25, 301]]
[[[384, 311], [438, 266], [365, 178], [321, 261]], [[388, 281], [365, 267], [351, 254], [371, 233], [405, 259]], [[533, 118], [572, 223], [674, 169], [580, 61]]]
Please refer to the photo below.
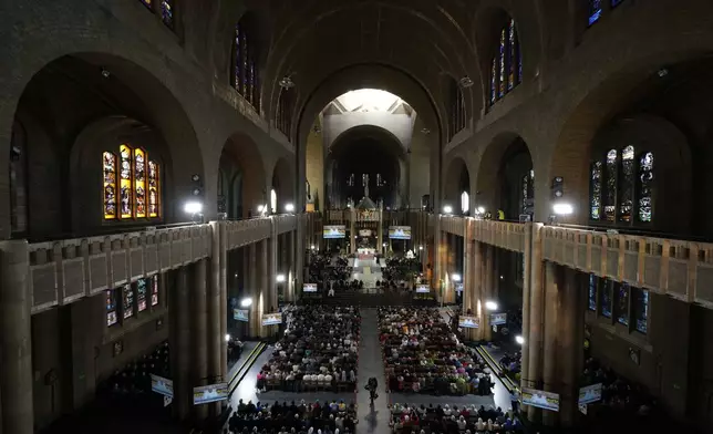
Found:
[[[369, 392], [364, 390], [366, 380], [375, 376], [379, 380], [379, 399], [374, 401], [373, 411], [369, 405]], [[359, 344], [359, 393], [356, 394], [356, 434], [388, 434], [389, 409], [386, 405], [386, 379], [384, 362], [379, 343], [379, 316], [376, 309], [361, 310], [361, 343]]]

